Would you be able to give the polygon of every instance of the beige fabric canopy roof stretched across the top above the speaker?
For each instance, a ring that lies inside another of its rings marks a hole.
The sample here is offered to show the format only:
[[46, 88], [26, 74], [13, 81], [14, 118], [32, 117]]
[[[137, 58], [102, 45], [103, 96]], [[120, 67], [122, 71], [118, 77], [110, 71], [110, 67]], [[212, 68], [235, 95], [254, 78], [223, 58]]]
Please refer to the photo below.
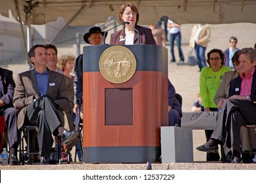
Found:
[[[62, 16], [69, 25], [93, 25], [116, 16], [121, 0], [1, 0], [0, 14], [24, 24], [42, 25]], [[139, 24], [152, 24], [168, 16], [178, 24], [256, 23], [255, 0], [137, 0]], [[29, 22], [30, 21], [30, 22]]]

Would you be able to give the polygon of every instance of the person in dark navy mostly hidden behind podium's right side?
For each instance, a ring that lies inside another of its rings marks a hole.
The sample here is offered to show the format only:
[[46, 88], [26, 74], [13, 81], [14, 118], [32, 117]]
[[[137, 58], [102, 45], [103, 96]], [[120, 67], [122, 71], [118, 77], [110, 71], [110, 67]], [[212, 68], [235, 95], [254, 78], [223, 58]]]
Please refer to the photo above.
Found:
[[175, 88], [168, 79], [168, 121], [170, 126], [181, 126], [181, 104], [175, 98]]

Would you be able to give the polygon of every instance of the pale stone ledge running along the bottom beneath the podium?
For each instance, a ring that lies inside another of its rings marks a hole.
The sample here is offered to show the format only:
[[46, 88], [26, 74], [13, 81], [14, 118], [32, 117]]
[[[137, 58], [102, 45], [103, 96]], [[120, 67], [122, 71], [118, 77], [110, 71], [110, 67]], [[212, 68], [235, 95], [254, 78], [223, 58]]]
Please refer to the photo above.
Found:
[[[0, 166], [1, 170], [146, 170], [147, 164], [90, 164]], [[152, 163], [153, 170], [256, 170], [256, 163]]]

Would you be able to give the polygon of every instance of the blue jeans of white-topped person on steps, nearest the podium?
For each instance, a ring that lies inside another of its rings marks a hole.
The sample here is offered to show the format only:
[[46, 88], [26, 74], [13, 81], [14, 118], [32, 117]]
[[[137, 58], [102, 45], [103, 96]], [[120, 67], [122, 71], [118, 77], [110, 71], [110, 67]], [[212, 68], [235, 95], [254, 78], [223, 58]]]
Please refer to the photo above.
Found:
[[181, 50], [181, 33], [175, 33], [175, 34], [170, 34], [170, 47], [171, 47], [171, 54], [172, 54], [172, 61], [176, 61], [175, 60], [175, 56], [174, 56], [174, 41], [176, 40], [176, 44], [177, 44], [177, 48], [179, 50], [179, 59], [181, 59], [181, 61], [184, 61], [184, 56]]

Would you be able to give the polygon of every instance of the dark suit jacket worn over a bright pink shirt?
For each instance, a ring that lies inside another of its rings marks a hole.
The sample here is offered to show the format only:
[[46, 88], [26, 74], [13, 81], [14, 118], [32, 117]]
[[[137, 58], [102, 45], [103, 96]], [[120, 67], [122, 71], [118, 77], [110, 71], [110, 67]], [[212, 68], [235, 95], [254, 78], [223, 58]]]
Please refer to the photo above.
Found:
[[[234, 78], [230, 82], [229, 96], [240, 95], [241, 84], [242, 84], [242, 78], [240, 76], [237, 76], [236, 78]], [[251, 84], [251, 95], [249, 97], [251, 98], [251, 102], [256, 104], [256, 69], [253, 74], [253, 82]]]

